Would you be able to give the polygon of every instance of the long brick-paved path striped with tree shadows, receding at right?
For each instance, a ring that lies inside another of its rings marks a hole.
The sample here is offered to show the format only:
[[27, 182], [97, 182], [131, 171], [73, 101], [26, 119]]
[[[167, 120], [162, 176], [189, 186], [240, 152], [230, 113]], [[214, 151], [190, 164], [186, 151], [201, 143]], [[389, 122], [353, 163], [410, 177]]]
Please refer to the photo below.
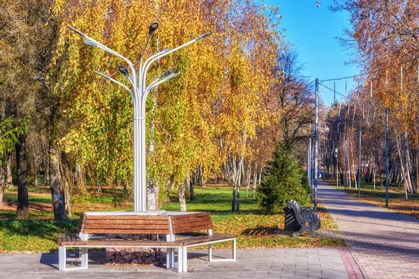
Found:
[[419, 278], [419, 220], [360, 202], [325, 182], [318, 184], [318, 198], [368, 278]]

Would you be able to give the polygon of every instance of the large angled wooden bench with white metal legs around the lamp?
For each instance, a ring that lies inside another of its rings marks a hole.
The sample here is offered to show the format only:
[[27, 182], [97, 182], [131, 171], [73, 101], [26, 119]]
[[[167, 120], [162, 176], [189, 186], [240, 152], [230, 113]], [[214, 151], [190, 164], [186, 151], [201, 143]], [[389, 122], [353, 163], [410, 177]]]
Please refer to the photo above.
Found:
[[[150, 216], [133, 212], [87, 212], [80, 218], [79, 234], [59, 234], [59, 270], [88, 268], [88, 248], [167, 248], [168, 269], [187, 271], [187, 248], [208, 245], [208, 259], [212, 259], [212, 243], [232, 241], [236, 257], [235, 234], [212, 234], [210, 213], [167, 212]], [[206, 232], [205, 232], [206, 231]], [[104, 240], [105, 234], [163, 234], [166, 241]], [[66, 266], [66, 248], [80, 248], [81, 266]]]

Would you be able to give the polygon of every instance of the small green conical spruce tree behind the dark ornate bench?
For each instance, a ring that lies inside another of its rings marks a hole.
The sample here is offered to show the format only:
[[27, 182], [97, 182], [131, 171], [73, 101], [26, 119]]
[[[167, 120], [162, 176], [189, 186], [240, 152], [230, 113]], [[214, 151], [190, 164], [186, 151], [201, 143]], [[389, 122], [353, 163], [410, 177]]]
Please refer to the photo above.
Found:
[[310, 188], [302, 165], [291, 154], [292, 144], [281, 142], [265, 168], [265, 181], [257, 191], [257, 203], [265, 213], [279, 213], [294, 199], [300, 205], [310, 202]]

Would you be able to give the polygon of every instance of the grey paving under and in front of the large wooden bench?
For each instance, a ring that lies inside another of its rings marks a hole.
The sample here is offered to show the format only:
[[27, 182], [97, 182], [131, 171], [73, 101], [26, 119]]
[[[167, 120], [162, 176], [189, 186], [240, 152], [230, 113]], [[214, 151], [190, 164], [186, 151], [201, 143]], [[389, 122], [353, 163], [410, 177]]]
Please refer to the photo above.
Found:
[[[207, 262], [206, 251], [188, 253], [188, 273], [158, 266], [103, 266], [104, 252], [89, 255], [89, 269], [58, 271], [57, 253], [0, 254], [0, 278], [349, 278], [341, 254], [347, 248], [237, 250], [236, 262]], [[346, 251], [348, 253], [348, 251]], [[230, 257], [231, 251], [214, 250]], [[70, 264], [71, 262], [68, 262]], [[77, 264], [77, 262], [75, 262]]]

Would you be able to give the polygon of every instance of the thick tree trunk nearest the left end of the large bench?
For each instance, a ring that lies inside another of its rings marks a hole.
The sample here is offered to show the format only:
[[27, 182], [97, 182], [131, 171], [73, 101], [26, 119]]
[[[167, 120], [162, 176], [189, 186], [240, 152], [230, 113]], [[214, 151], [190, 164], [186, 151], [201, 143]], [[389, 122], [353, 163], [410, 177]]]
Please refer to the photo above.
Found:
[[57, 146], [50, 146], [50, 188], [52, 195], [52, 206], [54, 208], [54, 219], [66, 220], [66, 204], [61, 194], [60, 172], [59, 172], [59, 151]]

